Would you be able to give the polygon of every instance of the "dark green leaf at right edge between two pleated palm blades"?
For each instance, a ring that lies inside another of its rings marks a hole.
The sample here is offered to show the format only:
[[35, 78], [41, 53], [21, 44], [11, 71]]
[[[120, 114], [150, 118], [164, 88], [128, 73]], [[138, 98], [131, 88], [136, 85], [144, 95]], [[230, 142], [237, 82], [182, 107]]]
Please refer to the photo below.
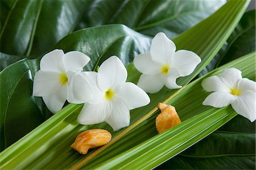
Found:
[[237, 27], [223, 45], [220, 52], [210, 61], [199, 76], [203, 76], [214, 68], [237, 59], [238, 57], [254, 52], [255, 37], [255, 10], [251, 10], [243, 14]]

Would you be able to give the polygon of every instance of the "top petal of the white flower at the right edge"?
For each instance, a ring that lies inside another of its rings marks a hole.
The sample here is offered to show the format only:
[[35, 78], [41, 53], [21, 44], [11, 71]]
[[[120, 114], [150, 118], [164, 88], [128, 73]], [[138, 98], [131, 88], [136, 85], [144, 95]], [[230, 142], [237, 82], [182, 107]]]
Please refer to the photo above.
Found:
[[242, 79], [242, 72], [236, 68], [227, 68], [220, 77], [230, 88], [237, 88], [238, 81]]

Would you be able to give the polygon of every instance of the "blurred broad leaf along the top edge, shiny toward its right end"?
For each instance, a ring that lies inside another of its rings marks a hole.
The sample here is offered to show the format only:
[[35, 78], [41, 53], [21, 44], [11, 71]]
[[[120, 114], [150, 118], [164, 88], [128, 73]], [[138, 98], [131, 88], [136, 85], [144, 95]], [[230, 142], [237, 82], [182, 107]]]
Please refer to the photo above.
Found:
[[143, 34], [164, 32], [174, 38], [221, 7], [226, 1], [133, 0], [95, 1], [77, 30], [86, 26], [121, 23]]

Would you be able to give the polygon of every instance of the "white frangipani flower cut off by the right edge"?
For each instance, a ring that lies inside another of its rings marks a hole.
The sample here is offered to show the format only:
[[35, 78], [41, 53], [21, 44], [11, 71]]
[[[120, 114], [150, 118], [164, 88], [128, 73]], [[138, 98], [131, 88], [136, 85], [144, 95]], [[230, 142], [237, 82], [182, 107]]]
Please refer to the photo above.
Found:
[[242, 78], [240, 70], [225, 69], [220, 77], [205, 78], [202, 86], [207, 92], [213, 92], [205, 98], [203, 105], [220, 108], [231, 104], [238, 114], [255, 121], [256, 82]]

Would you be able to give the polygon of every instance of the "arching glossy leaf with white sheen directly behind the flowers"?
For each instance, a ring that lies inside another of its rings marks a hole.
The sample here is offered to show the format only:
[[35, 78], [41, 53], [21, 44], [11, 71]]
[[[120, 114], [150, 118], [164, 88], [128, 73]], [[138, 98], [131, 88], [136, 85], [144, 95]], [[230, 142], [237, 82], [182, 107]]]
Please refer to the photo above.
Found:
[[91, 60], [84, 69], [92, 71], [113, 55], [118, 56], [122, 63], [127, 65], [139, 53], [146, 52], [150, 43], [150, 37], [126, 26], [112, 24], [73, 32], [61, 39], [54, 48], [64, 49], [66, 52], [75, 49], [85, 53]]

